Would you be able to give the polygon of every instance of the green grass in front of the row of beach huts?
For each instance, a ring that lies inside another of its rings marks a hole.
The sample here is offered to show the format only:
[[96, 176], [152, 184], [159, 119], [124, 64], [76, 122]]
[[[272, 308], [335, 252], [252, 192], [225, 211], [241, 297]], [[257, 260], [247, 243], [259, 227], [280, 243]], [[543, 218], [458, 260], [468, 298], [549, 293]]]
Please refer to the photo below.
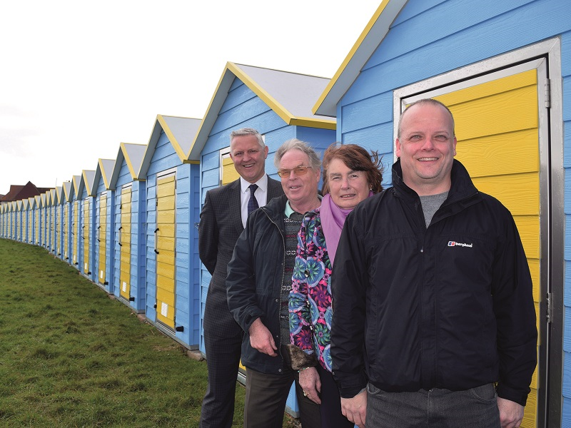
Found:
[[0, 305], [0, 427], [198, 427], [206, 362], [74, 267], [0, 239]]

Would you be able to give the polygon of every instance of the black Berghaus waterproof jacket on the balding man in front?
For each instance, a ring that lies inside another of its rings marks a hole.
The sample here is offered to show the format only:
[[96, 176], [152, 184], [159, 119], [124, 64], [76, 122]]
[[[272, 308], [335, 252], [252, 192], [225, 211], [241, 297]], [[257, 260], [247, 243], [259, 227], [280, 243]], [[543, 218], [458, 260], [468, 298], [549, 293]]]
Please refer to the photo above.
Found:
[[497, 382], [525, 405], [536, 365], [532, 281], [510, 212], [454, 161], [448, 198], [425, 227], [393, 165], [393, 188], [345, 222], [333, 270], [333, 372], [342, 397], [465, 390]]

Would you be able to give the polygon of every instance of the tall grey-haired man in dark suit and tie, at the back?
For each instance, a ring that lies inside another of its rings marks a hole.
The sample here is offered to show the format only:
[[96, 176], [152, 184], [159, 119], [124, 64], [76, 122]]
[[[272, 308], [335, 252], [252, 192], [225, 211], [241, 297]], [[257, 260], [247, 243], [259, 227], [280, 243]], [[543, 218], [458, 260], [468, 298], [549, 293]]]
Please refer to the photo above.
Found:
[[198, 251], [211, 273], [204, 309], [208, 388], [201, 428], [231, 427], [243, 331], [228, 310], [226, 265], [251, 210], [283, 195], [281, 183], [265, 173], [268, 147], [252, 128], [230, 134], [230, 157], [240, 178], [208, 190], [198, 227]]

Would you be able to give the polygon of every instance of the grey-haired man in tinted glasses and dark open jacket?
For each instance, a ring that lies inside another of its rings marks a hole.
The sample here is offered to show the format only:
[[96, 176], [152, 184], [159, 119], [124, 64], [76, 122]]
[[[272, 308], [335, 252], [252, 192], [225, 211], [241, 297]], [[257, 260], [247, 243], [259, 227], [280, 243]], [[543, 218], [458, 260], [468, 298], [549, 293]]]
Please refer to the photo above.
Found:
[[318, 404], [303, 395], [291, 368], [288, 295], [303, 214], [321, 204], [321, 161], [296, 139], [278, 148], [274, 159], [285, 195], [248, 218], [228, 264], [228, 307], [245, 332], [244, 427], [281, 428], [288, 392], [295, 381], [304, 428], [320, 427]]

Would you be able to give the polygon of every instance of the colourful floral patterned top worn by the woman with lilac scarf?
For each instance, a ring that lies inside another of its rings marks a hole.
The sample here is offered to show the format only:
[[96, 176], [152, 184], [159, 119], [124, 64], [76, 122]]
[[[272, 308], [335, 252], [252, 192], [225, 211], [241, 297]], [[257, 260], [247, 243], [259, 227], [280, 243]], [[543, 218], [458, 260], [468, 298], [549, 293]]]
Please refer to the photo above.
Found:
[[319, 208], [305, 214], [289, 297], [291, 344], [331, 371], [331, 263]]

